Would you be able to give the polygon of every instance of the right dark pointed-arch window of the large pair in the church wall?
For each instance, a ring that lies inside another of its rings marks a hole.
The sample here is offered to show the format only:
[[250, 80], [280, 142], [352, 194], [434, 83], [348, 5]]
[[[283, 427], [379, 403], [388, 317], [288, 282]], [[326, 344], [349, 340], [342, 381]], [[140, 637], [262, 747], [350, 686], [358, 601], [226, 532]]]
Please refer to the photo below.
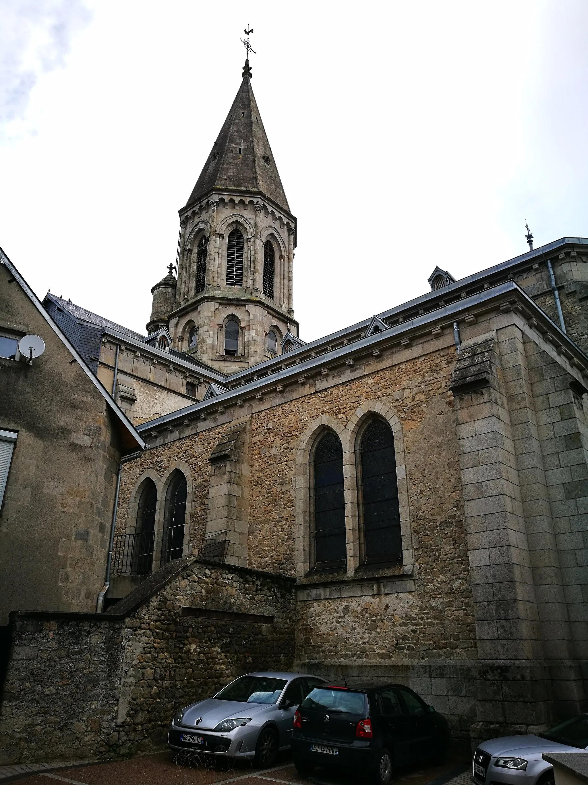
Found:
[[387, 422], [374, 418], [361, 436], [361, 550], [365, 564], [402, 561], [402, 539], [394, 434]]

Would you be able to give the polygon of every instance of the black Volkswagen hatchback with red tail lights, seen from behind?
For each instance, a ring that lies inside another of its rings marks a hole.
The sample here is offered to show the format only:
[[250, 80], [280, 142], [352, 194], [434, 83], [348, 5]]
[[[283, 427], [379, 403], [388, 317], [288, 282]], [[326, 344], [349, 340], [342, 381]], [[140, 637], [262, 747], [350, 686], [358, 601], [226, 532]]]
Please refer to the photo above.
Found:
[[394, 767], [443, 761], [448, 739], [445, 717], [408, 687], [320, 685], [296, 710], [292, 754], [300, 774], [354, 768], [385, 785]]

